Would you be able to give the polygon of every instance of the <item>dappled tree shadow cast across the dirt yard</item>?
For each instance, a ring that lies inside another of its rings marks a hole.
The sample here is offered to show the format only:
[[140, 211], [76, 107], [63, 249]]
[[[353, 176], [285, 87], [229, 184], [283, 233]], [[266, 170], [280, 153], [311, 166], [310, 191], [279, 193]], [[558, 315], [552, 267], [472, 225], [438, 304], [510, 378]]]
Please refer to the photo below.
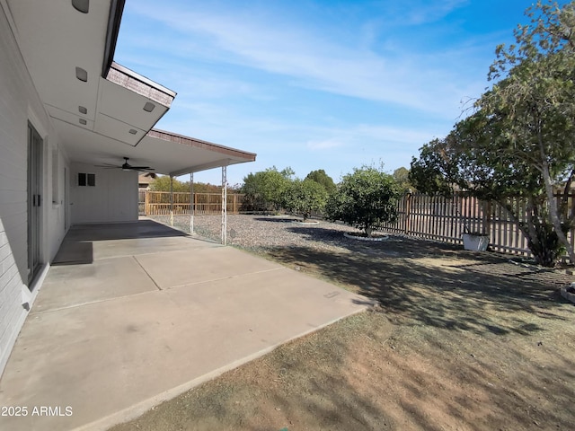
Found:
[[267, 254], [376, 299], [392, 319], [477, 334], [540, 330], [525, 315], [563, 319], [553, 310], [564, 303], [557, 291], [569, 281], [500, 256], [415, 240], [351, 244], [339, 253], [295, 247]]

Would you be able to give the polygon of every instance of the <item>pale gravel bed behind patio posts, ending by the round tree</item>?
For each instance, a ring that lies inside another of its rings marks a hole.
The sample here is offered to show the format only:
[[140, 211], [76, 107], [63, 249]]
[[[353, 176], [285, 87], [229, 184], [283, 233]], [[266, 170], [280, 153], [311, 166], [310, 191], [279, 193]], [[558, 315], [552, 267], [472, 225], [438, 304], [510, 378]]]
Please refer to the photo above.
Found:
[[[169, 216], [150, 217], [169, 224]], [[195, 216], [194, 232], [204, 238], [220, 242], [221, 216]], [[174, 227], [190, 233], [190, 217], [174, 216]], [[343, 236], [358, 232], [343, 224], [324, 221], [301, 223], [292, 216], [227, 216], [227, 244], [250, 251], [267, 251], [276, 247], [313, 247], [319, 250], [340, 250], [358, 242]]]

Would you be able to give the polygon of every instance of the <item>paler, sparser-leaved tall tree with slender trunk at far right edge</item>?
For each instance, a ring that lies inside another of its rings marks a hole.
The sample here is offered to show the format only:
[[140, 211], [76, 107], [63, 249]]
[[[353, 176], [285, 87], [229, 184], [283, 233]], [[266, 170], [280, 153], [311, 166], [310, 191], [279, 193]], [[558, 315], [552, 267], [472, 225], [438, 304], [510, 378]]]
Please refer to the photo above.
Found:
[[[498, 154], [537, 172], [545, 197], [539, 218], [575, 262], [565, 234], [575, 216], [566, 207], [575, 175], [575, 2], [540, 0], [526, 14], [530, 23], [515, 31], [516, 44], [497, 48], [489, 77], [504, 79], [476, 108], [498, 120]], [[553, 195], [560, 185], [567, 187], [558, 205]]]

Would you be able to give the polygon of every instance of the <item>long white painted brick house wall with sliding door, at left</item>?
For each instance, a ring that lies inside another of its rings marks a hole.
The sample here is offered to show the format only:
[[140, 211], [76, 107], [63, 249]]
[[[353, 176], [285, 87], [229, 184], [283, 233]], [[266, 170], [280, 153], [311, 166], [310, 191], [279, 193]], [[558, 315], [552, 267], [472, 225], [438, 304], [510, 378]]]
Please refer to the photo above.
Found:
[[[2, 6], [2, 4], [0, 4]], [[40, 263], [44, 269], [53, 259], [64, 238], [64, 202], [52, 204], [54, 190], [52, 156], [61, 172], [66, 155], [60, 151], [56, 134], [31, 82], [9, 22], [0, 7], [0, 374], [27, 311], [22, 303], [33, 302], [40, 288], [42, 273], [28, 287], [28, 123], [43, 139], [41, 154], [42, 202], [40, 216]], [[61, 193], [59, 196], [64, 197]]]

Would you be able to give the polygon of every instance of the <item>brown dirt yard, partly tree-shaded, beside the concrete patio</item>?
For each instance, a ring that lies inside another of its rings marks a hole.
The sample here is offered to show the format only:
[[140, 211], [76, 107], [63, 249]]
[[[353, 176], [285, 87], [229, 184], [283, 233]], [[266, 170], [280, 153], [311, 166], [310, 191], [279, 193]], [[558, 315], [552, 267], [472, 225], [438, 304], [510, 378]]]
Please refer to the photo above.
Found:
[[340, 242], [330, 224], [286, 228], [308, 245], [250, 250], [379, 306], [114, 431], [573, 429], [575, 305], [558, 292], [573, 276], [435, 242]]

